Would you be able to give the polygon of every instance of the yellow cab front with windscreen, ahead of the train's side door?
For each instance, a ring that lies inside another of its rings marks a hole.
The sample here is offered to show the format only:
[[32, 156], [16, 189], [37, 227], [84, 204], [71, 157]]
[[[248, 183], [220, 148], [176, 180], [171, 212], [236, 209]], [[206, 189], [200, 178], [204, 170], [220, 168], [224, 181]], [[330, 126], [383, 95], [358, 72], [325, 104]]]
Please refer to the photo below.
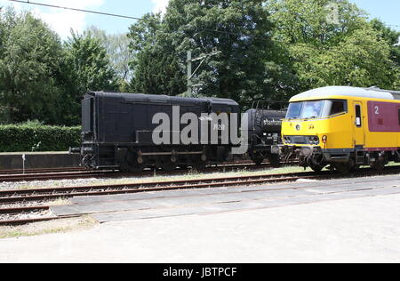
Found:
[[[341, 127], [348, 118], [348, 100], [326, 99], [292, 102], [284, 118], [284, 149], [296, 157], [300, 165], [321, 171], [329, 161], [347, 161], [348, 156], [331, 147], [348, 147], [346, 128]], [[333, 129], [334, 128], [334, 129]], [[286, 159], [290, 161], [291, 159]]]

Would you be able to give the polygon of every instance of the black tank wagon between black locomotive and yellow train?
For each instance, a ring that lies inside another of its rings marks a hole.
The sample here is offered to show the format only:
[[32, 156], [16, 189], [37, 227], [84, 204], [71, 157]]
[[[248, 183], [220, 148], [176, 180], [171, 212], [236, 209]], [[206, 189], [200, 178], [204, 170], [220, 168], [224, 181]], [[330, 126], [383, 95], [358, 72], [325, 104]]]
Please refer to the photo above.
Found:
[[271, 153], [273, 145], [282, 143], [282, 120], [286, 116], [286, 109], [252, 108], [248, 114], [249, 130], [249, 157], [260, 165], [264, 159], [277, 166], [280, 159]]

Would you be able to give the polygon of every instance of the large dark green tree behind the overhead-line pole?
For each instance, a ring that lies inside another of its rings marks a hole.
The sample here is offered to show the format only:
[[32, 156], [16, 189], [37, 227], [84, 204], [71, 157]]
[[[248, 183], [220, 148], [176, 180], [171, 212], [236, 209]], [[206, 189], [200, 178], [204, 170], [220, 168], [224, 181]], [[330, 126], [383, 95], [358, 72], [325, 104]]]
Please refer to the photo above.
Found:
[[[197, 56], [217, 49], [220, 55], [194, 76], [203, 84], [199, 95], [244, 104], [290, 89], [294, 76], [285, 60], [276, 60], [268, 16], [262, 1], [172, 0], [163, 19], [150, 14], [131, 28], [132, 84], [144, 92], [185, 92], [188, 50]], [[163, 77], [166, 89], [158, 85]]]

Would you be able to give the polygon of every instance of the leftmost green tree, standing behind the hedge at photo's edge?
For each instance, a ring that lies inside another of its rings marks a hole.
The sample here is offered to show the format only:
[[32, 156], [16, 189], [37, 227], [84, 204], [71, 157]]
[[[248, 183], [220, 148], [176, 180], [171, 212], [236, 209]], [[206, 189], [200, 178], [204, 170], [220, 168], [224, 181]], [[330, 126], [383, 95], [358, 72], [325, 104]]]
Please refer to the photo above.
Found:
[[[60, 38], [29, 12], [8, 9], [1, 16], [0, 99], [4, 122], [60, 120]], [[3, 123], [4, 123], [3, 122]]]

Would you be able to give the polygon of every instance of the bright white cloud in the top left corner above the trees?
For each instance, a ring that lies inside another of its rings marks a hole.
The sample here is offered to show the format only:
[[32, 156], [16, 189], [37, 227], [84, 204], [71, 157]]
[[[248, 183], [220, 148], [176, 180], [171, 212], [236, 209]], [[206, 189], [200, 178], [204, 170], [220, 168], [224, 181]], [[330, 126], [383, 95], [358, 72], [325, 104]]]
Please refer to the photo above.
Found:
[[[105, 0], [40, 0], [37, 3], [52, 4], [75, 9], [90, 10], [98, 8], [104, 4]], [[86, 12], [77, 12], [64, 9], [46, 8], [38, 5], [18, 4], [5, 0], [0, 0], [0, 6], [12, 4], [17, 11], [28, 10], [33, 12], [36, 17], [44, 20], [62, 39], [70, 35], [70, 29], [82, 32], [86, 28]]]

